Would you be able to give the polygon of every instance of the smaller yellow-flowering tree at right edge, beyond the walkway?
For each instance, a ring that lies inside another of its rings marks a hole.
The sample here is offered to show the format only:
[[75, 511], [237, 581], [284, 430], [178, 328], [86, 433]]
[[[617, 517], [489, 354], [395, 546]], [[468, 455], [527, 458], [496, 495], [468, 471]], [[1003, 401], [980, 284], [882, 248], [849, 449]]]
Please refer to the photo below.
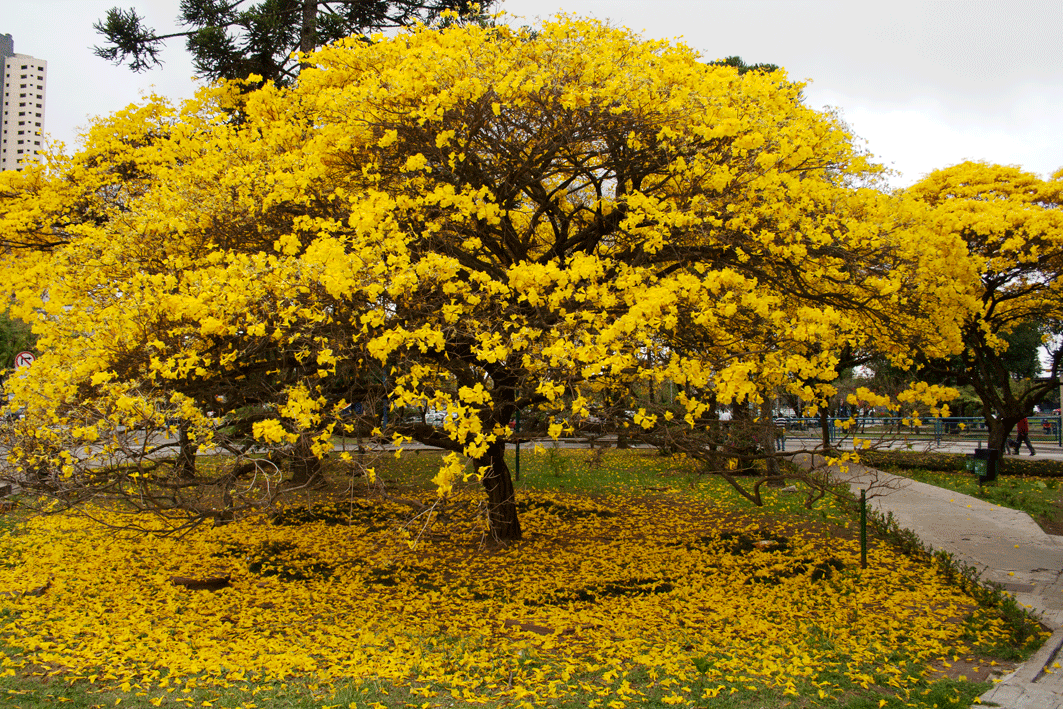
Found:
[[[931, 369], [969, 385], [981, 400], [989, 446], [1003, 451], [1011, 429], [1059, 388], [1063, 350], [1053, 348], [1047, 376], [1014, 375], [1009, 340], [1031, 327], [1056, 332], [1063, 323], [1063, 174], [1041, 180], [1015, 167], [962, 163], [930, 173], [909, 197], [935, 236], [966, 244], [978, 277], [979, 306], [963, 326], [961, 356]], [[1029, 369], [1029, 368], [1027, 368]]]

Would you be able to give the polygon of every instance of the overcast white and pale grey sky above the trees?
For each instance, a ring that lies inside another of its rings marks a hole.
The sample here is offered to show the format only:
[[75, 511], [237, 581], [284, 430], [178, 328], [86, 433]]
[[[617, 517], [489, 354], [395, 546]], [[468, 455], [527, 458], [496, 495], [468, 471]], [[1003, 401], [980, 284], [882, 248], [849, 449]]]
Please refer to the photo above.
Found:
[[[151, 87], [195, 90], [182, 40], [163, 69], [134, 74], [96, 57], [92, 22], [136, 7], [157, 32], [176, 29], [179, 0], [0, 0], [0, 33], [48, 61], [45, 131], [68, 147], [89, 116]], [[558, 11], [676, 38], [706, 58], [728, 55], [809, 80], [810, 105], [837, 106], [905, 186], [963, 159], [1063, 167], [1063, 2], [926, 0], [505, 0], [526, 23]], [[524, 22], [521, 22], [524, 23]]]

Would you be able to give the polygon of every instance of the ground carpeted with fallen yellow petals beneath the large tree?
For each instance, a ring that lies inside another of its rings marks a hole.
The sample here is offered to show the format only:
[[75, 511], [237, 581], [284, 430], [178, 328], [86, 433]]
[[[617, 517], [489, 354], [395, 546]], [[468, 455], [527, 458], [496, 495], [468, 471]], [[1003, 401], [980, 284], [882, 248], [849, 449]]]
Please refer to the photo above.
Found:
[[681, 483], [543, 487], [522, 490], [525, 540], [504, 547], [475, 489], [406, 534], [408, 508], [361, 496], [180, 538], [27, 520], [0, 538], [4, 669], [125, 706], [254, 704], [287, 683], [306, 706], [949, 706], [961, 692], [927, 668], [1009, 642], [933, 564], [876, 544], [861, 570], [827, 521]]

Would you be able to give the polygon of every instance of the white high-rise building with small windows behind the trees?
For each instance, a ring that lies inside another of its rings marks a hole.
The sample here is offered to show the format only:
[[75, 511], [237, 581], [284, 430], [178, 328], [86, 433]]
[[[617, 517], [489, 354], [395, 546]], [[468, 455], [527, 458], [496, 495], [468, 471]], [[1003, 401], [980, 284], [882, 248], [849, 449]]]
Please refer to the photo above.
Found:
[[48, 62], [15, 53], [0, 34], [0, 170], [18, 170], [44, 147]]

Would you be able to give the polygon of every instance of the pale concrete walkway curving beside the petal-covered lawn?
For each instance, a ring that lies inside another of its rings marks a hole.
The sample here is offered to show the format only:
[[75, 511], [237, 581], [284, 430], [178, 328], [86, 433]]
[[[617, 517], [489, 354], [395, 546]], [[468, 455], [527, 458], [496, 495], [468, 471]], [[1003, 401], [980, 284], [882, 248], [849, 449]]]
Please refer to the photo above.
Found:
[[1063, 670], [1053, 666], [1063, 664], [1063, 537], [1046, 535], [1025, 512], [932, 485], [858, 468], [845, 480], [857, 495], [872, 484], [884, 485], [889, 489], [871, 497], [874, 509], [892, 512], [926, 544], [1003, 586], [1052, 630], [1044, 646], [982, 702], [1007, 709], [1063, 709]]

